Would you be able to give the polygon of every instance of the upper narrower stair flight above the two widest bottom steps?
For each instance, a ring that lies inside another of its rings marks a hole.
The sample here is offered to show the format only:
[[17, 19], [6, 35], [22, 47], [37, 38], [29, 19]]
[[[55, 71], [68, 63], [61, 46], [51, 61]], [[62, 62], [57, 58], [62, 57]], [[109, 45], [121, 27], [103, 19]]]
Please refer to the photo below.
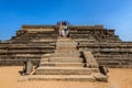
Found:
[[41, 66], [82, 67], [85, 65], [80, 53], [76, 50], [76, 43], [69, 38], [59, 38], [56, 43], [55, 53], [44, 59], [41, 62]]

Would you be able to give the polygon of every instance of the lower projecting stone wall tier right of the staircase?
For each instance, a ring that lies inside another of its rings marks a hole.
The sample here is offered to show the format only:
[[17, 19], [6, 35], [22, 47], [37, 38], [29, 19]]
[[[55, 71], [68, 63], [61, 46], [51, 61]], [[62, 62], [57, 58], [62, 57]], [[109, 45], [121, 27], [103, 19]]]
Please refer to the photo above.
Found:
[[92, 52], [100, 65], [132, 67], [132, 43], [79, 43], [80, 51]]

